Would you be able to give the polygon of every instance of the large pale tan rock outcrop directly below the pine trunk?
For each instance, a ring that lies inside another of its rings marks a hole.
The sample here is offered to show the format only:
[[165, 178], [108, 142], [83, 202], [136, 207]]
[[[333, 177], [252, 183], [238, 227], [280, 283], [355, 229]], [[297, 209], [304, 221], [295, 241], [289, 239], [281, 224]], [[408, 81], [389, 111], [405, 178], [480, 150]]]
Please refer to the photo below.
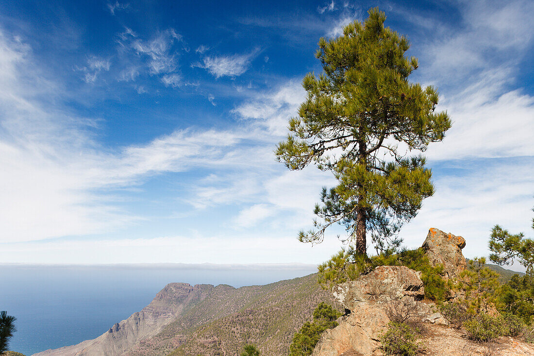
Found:
[[415, 303], [424, 296], [419, 274], [404, 266], [380, 266], [357, 281], [337, 286], [334, 297], [351, 313], [321, 336], [312, 356], [381, 354], [379, 339], [388, 326], [387, 307], [401, 300]]

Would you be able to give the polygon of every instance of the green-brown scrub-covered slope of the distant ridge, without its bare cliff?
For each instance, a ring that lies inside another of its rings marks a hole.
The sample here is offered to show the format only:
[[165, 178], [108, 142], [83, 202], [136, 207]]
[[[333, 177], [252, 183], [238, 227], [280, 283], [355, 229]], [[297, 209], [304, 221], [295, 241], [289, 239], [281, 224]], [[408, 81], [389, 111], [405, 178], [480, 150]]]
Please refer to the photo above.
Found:
[[334, 303], [331, 294], [319, 287], [316, 274], [238, 289], [218, 285], [127, 354], [238, 354], [245, 344], [257, 345], [262, 355], [288, 354], [291, 338], [312, 320], [321, 301]]

